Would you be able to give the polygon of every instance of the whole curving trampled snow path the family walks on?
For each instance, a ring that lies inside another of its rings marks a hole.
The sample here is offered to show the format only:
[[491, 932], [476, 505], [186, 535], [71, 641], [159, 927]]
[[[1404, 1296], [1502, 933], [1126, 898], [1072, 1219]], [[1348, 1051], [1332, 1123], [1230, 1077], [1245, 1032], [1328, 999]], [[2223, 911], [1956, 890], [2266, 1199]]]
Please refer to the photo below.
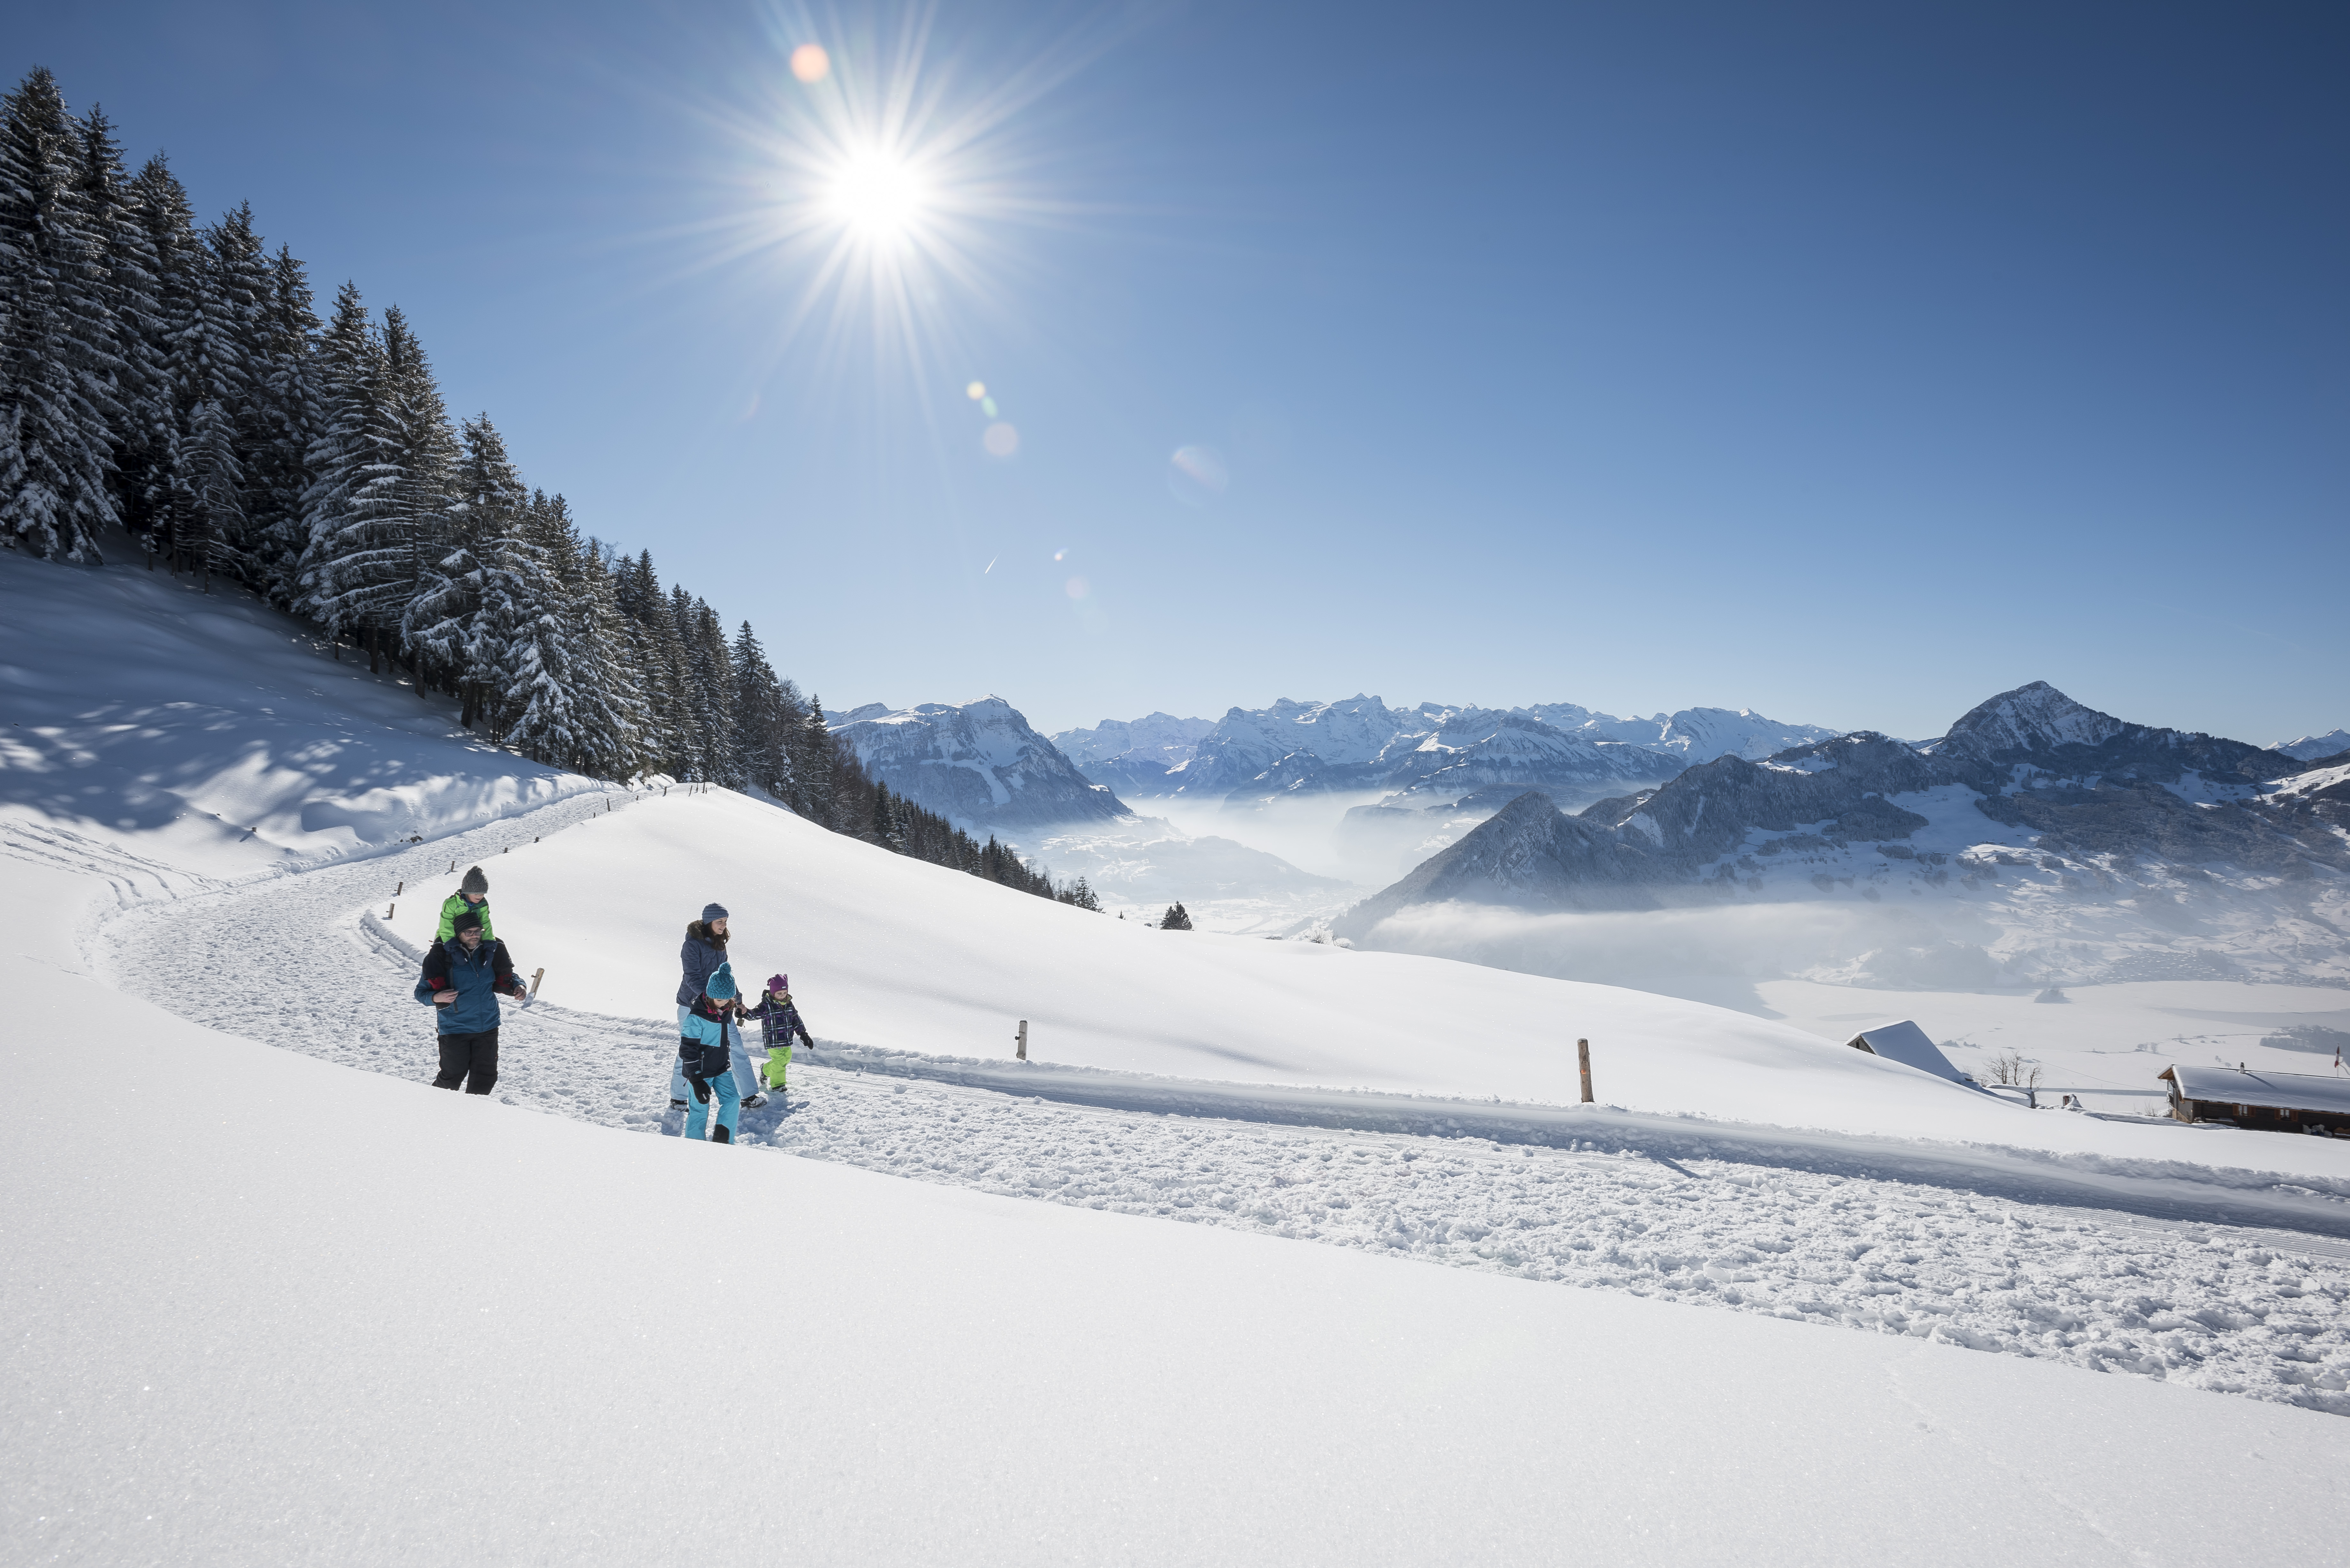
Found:
[[[496, 875], [491, 856], [627, 799], [569, 799], [432, 844], [230, 889], [92, 860], [87, 870], [106, 870], [125, 905], [96, 933], [94, 957], [122, 990], [209, 1027], [371, 1072], [430, 1077], [432, 1025], [409, 994], [414, 964], [367, 907], [451, 860], [482, 860]], [[85, 846], [66, 835], [12, 849], [70, 863]], [[524, 969], [562, 966], [557, 952], [524, 950], [522, 959]], [[672, 1051], [667, 1025], [510, 1009], [498, 1098], [658, 1131]], [[872, 1056], [827, 1053], [851, 1063]], [[169, 1072], [169, 1063], [146, 1070]], [[1753, 1152], [1676, 1159], [1048, 1103], [909, 1081], [895, 1077], [902, 1060], [895, 1072], [806, 1063], [792, 1072], [787, 1107], [745, 1112], [747, 1147], [1929, 1335], [2350, 1415], [2350, 1244], [2334, 1239], [2341, 1229], [2258, 1232], [2033, 1204], [1993, 1197], [1995, 1180], [1969, 1190], [1849, 1175], [1821, 1161], [1765, 1164]], [[1445, 1107], [1434, 1103], [1431, 1119]]]

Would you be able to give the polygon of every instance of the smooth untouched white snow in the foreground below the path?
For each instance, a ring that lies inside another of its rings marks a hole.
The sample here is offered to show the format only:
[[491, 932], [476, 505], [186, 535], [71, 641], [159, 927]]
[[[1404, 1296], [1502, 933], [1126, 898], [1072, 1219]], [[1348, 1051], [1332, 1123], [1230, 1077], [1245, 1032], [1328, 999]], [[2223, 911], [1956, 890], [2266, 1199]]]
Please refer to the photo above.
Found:
[[[52, 1107], [0, 1143], [7, 1561], [2254, 1566], [2338, 1533], [2305, 1500], [2350, 1425], [2305, 1410], [613, 1138], [7, 947], [0, 1086]], [[54, 1044], [92, 1016], [164, 1070], [94, 1086]], [[2181, 1472], [2247, 1507], [2153, 1507]]]

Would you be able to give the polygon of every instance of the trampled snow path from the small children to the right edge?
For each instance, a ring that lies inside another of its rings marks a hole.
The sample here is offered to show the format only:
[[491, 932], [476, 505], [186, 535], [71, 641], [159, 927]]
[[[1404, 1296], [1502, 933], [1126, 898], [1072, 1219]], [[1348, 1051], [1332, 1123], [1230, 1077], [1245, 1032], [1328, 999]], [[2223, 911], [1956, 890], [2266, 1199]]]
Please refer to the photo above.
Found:
[[2303, 1234], [1718, 1159], [1276, 1131], [792, 1072], [790, 1112], [747, 1112], [747, 1145], [2350, 1415], [2350, 1246]]

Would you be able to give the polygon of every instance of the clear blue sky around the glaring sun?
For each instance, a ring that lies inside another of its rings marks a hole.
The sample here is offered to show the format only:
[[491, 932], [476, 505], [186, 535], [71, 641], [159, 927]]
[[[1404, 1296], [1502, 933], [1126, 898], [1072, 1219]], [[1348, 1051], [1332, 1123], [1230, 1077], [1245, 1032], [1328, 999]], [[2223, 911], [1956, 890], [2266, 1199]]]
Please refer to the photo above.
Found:
[[884, 244], [877, 336], [776, 214], [905, 16], [21, 7], [0, 66], [837, 708], [2350, 724], [2338, 7], [945, 2], [956, 263]]

